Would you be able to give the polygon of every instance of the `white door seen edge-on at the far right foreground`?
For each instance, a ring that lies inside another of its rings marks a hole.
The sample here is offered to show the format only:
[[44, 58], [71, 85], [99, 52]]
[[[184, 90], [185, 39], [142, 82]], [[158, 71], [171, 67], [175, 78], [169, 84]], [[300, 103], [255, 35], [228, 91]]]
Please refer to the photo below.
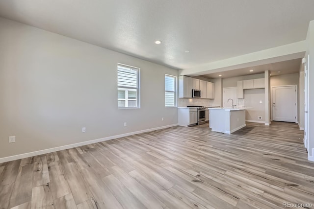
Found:
[[[309, 139], [308, 139], [308, 129], [309, 129], [309, 118], [308, 118], [308, 101], [309, 101], [309, 62], [310, 55], [308, 55], [307, 65], [304, 66], [304, 146], [309, 151]], [[302, 114], [302, 113], [300, 113]]]

